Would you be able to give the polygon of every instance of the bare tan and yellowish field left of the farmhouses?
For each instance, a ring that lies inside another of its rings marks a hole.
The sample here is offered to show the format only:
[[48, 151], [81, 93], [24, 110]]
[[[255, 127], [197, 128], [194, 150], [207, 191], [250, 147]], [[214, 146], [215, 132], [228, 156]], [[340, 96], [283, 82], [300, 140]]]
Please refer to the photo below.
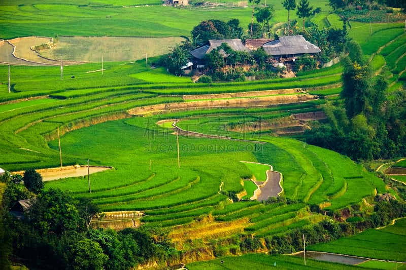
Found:
[[[42, 50], [31, 48], [48, 44], [51, 37], [28, 36], [0, 41], [0, 63], [12, 65], [59, 65], [75, 62], [133, 61], [163, 55], [184, 41], [182, 37], [83, 37], [60, 36], [56, 46]], [[15, 46], [15, 50], [13, 48]], [[14, 55], [13, 55], [14, 50]]]

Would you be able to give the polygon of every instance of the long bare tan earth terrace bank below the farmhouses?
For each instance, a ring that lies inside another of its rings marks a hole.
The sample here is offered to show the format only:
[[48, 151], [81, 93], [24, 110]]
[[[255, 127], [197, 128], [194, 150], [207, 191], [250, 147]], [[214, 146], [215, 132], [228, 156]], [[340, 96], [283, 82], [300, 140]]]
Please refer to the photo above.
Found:
[[[199, 95], [207, 97], [212, 95]], [[232, 107], [266, 107], [270, 105], [297, 103], [308, 100], [315, 100], [317, 96], [312, 96], [304, 93], [300, 94], [284, 94], [273, 96], [256, 96], [249, 98], [231, 98], [231, 99], [213, 99], [213, 100], [197, 100], [190, 102], [174, 102], [164, 103], [150, 106], [137, 107], [128, 110], [132, 115], [148, 115], [170, 111], [195, 110], [205, 108], [232, 108]]]

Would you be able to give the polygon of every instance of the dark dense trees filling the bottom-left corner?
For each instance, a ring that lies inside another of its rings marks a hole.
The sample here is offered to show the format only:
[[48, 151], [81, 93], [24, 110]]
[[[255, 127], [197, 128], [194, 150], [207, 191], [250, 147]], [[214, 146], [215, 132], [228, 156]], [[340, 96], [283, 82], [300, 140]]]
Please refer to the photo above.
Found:
[[[27, 170], [24, 177], [6, 172], [1, 177], [0, 265], [11, 269], [9, 256], [43, 269], [130, 269], [148, 260], [176, 256], [167, 233], [159, 227], [89, 228], [99, 213], [89, 199], [75, 199], [68, 191], [44, 190], [41, 175]], [[9, 213], [22, 199], [30, 206], [24, 218]]]

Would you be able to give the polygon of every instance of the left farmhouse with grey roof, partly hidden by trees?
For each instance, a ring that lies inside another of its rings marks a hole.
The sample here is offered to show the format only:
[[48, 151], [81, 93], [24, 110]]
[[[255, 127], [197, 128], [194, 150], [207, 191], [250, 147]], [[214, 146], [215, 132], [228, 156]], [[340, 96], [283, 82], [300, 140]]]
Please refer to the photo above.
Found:
[[[197, 49], [194, 49], [190, 52], [193, 58], [193, 63], [195, 68], [204, 68], [205, 62], [204, 58], [205, 55], [210, 53], [211, 51], [215, 50], [217, 47], [221, 46], [223, 43], [226, 43], [228, 46], [231, 47], [233, 51], [245, 51], [250, 53], [251, 49], [244, 46], [239, 38], [235, 38], [233, 40], [209, 40], [209, 43], [205, 46], [201, 46]], [[221, 50], [220, 54], [227, 58], [227, 54]]]

